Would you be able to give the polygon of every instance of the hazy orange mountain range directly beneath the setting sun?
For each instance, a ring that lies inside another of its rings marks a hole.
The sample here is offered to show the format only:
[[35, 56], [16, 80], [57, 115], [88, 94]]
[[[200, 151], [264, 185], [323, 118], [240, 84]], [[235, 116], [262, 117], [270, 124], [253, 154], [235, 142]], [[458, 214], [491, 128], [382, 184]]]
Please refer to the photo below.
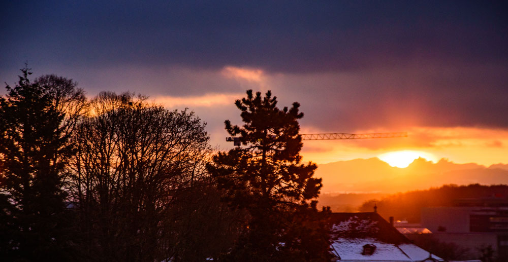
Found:
[[393, 194], [443, 184], [508, 184], [508, 165], [487, 168], [473, 163], [456, 164], [446, 159], [432, 163], [419, 158], [406, 168], [398, 168], [370, 158], [319, 165], [315, 176], [323, 178], [322, 194]]

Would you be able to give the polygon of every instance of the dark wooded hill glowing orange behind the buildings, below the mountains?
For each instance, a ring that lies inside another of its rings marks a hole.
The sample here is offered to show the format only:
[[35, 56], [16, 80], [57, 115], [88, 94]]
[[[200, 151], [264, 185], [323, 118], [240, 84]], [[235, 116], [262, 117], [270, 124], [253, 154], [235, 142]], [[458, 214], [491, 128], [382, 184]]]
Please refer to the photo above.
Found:
[[422, 207], [453, 206], [455, 199], [464, 198], [502, 198], [508, 199], [508, 185], [444, 185], [421, 191], [393, 194], [366, 201], [361, 212], [372, 212], [374, 204], [380, 215], [388, 219], [407, 219], [409, 222], [420, 222]]

